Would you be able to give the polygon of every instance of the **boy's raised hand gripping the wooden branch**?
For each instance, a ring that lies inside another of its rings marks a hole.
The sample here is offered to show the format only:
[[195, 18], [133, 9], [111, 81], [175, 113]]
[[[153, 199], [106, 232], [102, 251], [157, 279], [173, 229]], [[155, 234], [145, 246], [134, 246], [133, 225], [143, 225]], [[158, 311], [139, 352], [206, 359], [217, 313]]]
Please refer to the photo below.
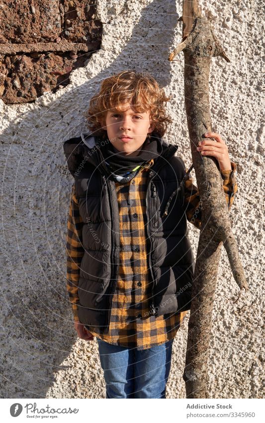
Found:
[[202, 155], [211, 155], [217, 158], [220, 170], [232, 170], [231, 161], [228, 154], [228, 147], [219, 134], [215, 132], [208, 132], [204, 134], [203, 138], [214, 138], [214, 140], [199, 141], [199, 146], [196, 148]]

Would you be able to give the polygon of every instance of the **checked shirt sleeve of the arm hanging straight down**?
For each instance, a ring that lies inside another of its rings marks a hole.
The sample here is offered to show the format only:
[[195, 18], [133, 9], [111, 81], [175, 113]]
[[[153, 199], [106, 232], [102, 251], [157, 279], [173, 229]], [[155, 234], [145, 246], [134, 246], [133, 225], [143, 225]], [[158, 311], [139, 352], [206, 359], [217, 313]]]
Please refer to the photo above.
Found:
[[66, 253], [67, 253], [67, 291], [74, 313], [75, 321], [78, 318], [78, 282], [80, 278], [80, 265], [84, 256], [82, 242], [83, 220], [79, 212], [79, 204], [76, 198], [75, 184], [72, 188], [71, 203], [67, 221]]

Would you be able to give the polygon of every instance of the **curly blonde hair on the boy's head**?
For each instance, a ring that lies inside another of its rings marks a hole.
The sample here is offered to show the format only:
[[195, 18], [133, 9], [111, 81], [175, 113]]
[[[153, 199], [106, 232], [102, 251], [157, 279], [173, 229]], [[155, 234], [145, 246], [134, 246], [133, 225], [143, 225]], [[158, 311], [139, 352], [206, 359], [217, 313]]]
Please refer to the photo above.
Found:
[[[147, 76], [146, 76], [147, 75]], [[85, 114], [89, 130], [96, 136], [106, 136], [102, 129], [108, 110], [122, 112], [122, 107], [130, 103], [136, 113], [150, 110], [150, 121], [155, 123], [156, 132], [163, 137], [172, 119], [166, 115], [167, 97], [163, 88], [148, 73], [125, 70], [103, 80], [100, 91], [94, 95]]]

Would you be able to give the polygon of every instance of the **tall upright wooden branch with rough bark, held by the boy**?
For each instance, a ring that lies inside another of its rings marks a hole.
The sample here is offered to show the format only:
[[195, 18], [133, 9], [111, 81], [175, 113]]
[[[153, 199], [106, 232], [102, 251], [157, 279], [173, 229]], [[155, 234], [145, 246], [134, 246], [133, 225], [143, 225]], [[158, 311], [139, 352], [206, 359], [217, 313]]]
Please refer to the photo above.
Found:
[[[186, 362], [183, 374], [187, 398], [207, 398], [207, 359], [212, 309], [222, 245], [240, 290], [248, 289], [238, 247], [232, 233], [217, 160], [196, 150], [203, 134], [212, 132], [209, 107], [211, 58], [230, 62], [197, 0], [183, 0], [182, 41], [169, 56], [184, 53], [184, 96], [192, 161], [202, 207]], [[240, 291], [241, 292], [241, 291]]]

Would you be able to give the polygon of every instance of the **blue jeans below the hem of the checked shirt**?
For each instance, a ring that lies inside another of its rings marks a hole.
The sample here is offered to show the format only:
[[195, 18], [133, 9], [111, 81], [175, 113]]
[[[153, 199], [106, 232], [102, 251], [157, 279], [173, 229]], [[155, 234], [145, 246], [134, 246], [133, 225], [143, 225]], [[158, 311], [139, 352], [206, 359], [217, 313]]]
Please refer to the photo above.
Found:
[[106, 398], [166, 398], [173, 339], [141, 351], [96, 340]]

